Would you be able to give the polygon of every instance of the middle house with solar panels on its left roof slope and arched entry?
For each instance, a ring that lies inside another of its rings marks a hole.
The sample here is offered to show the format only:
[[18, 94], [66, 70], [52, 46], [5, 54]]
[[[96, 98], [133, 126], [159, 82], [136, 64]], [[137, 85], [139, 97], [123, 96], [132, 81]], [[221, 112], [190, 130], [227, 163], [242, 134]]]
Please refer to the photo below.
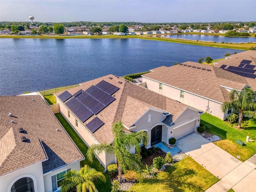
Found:
[[[84, 82], [55, 96], [60, 112], [87, 146], [111, 144], [112, 124], [118, 121], [126, 132], [147, 132], [146, 148], [196, 132], [200, 123], [201, 111], [114, 75]], [[114, 154], [103, 152], [96, 157], [105, 168], [116, 162]]]

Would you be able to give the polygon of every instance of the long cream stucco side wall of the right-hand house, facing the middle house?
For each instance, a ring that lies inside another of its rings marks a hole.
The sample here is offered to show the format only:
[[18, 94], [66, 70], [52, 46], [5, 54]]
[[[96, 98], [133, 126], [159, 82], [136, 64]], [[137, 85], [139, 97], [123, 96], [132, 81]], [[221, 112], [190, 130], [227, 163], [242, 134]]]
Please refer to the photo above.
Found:
[[172, 98], [174, 100], [177, 100], [181, 103], [184, 103], [188, 106], [192, 106], [193, 108], [202, 110], [204, 112], [207, 112], [209, 114], [212, 114], [213, 116], [216, 116], [220, 118], [221, 120], [226, 119], [226, 113], [224, 114], [221, 109], [221, 103], [214, 102], [210, 99], [203, 98], [202, 96], [195, 95], [189, 92], [184, 91], [184, 98], [180, 97], [180, 89], [173, 88], [171, 86], [162, 85], [162, 90], [159, 89], [159, 82], [156, 82], [154, 80], [150, 80], [148, 78], [142, 77], [142, 82], [147, 83], [147, 88], [149, 90], [153, 90], [154, 92], [157, 92], [159, 94], [162, 94], [164, 96], [167, 96], [169, 98]]

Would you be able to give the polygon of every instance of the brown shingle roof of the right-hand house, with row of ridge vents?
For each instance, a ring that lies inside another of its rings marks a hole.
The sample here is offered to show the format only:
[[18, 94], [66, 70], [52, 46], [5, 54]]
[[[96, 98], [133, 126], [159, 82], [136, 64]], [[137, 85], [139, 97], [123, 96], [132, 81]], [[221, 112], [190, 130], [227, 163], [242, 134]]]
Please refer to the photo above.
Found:
[[218, 102], [227, 101], [222, 87], [241, 90], [244, 86], [250, 85], [256, 90], [255, 79], [190, 61], [182, 65], [155, 68], [142, 76]]

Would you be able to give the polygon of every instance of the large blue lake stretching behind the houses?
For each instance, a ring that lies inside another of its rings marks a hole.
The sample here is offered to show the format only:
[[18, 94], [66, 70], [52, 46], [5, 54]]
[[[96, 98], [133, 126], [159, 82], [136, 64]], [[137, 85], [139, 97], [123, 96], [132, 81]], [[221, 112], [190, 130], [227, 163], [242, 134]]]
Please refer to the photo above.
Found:
[[124, 76], [176, 62], [218, 59], [243, 50], [141, 39], [0, 38], [0, 95]]

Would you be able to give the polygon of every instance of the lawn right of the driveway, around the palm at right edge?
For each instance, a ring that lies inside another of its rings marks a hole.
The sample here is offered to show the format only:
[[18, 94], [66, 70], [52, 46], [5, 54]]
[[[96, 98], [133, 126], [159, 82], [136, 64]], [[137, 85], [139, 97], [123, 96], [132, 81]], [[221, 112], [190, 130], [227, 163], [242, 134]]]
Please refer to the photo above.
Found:
[[[241, 161], [245, 161], [256, 153], [256, 119], [251, 118], [248, 121], [247, 127], [242, 128], [242, 130], [237, 130], [226, 122], [214, 117], [210, 114], [201, 115], [202, 124], [210, 124], [211, 128], [209, 132], [216, 134], [222, 140], [214, 142], [217, 146], [226, 150], [232, 156], [240, 156]], [[242, 123], [242, 127], [243, 127]], [[254, 142], [248, 142], [245, 146], [240, 146], [236, 144], [236, 140], [246, 141], [246, 136], [250, 132], [250, 138], [254, 139]]]

